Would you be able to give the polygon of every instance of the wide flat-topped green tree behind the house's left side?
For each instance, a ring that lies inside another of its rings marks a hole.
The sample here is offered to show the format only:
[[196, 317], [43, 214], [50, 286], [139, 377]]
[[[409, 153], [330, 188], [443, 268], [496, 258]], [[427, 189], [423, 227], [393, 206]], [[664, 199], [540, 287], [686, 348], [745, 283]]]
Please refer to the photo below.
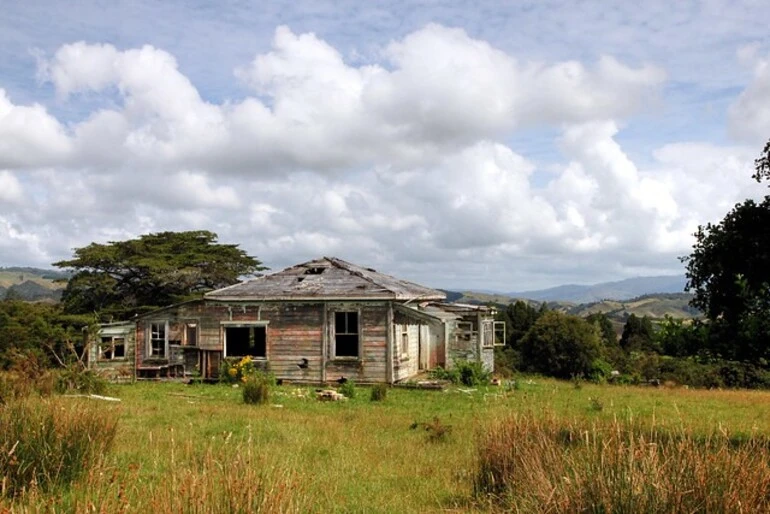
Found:
[[74, 253], [73, 259], [54, 263], [75, 272], [62, 295], [69, 313], [127, 316], [199, 297], [267, 269], [205, 230], [91, 243]]

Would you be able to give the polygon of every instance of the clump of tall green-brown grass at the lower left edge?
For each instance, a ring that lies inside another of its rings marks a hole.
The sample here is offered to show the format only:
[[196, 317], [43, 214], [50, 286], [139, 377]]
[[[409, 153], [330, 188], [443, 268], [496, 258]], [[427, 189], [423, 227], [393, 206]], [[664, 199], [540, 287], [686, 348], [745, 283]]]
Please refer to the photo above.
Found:
[[0, 494], [70, 484], [112, 446], [117, 415], [103, 405], [28, 397], [0, 406]]

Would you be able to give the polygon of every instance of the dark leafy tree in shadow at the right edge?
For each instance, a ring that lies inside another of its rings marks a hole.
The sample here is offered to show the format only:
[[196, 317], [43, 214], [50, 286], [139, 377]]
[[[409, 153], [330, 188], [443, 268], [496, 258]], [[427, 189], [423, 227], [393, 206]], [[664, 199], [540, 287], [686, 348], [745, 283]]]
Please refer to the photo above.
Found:
[[[757, 181], [770, 179], [770, 142], [756, 160]], [[718, 224], [698, 227], [682, 260], [691, 304], [711, 322], [710, 350], [767, 365], [770, 361], [770, 196], [737, 204]]]

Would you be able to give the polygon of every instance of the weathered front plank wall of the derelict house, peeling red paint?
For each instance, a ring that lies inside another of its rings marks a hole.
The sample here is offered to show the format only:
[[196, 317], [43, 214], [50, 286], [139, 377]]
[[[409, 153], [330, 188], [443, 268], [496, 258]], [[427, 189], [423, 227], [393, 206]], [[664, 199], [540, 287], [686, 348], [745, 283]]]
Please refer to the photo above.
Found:
[[[358, 358], [335, 358], [334, 313], [357, 312]], [[266, 358], [262, 361], [276, 378], [297, 382], [331, 382], [340, 378], [358, 382], [388, 380], [389, 303], [378, 302], [190, 302], [148, 314], [137, 323], [137, 364], [151, 364], [148, 326], [168, 322], [168, 338], [189, 346], [185, 323], [199, 327], [199, 350], [226, 352], [225, 325], [264, 322]], [[227, 356], [225, 356], [227, 357]], [[215, 362], [218, 362], [215, 360]], [[211, 370], [214, 371], [214, 370]]]

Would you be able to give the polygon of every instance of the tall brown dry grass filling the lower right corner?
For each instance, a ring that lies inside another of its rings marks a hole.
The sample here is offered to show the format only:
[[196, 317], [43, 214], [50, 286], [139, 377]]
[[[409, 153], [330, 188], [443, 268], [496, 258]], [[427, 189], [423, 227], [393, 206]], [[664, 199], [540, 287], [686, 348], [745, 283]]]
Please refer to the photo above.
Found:
[[474, 490], [512, 512], [770, 512], [770, 443], [520, 414], [480, 433]]

